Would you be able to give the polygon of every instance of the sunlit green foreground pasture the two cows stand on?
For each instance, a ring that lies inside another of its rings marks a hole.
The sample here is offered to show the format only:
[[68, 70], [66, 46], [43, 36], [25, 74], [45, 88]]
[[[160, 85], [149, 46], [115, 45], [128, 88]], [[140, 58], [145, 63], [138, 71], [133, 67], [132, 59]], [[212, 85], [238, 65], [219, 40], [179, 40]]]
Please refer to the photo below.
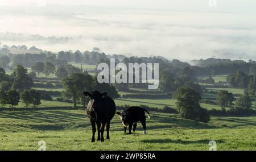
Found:
[[90, 143], [91, 127], [84, 110], [0, 111], [0, 149], [37, 150], [39, 140], [47, 150], [255, 150], [256, 117], [212, 117], [210, 123], [151, 113], [147, 134], [138, 124], [135, 134], [123, 134], [117, 115], [110, 140]]

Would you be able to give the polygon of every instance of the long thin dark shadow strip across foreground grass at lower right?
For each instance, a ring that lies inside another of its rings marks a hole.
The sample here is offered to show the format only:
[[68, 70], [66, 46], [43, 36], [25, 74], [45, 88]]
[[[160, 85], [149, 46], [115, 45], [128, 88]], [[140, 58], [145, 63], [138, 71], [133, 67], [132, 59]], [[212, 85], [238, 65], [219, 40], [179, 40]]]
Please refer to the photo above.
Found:
[[[177, 143], [177, 144], [199, 144], [199, 143], [206, 143], [210, 142], [210, 139], [204, 140], [172, 140], [172, 139], [145, 139], [141, 140], [143, 143]], [[216, 143], [224, 143], [224, 140], [216, 140]]]

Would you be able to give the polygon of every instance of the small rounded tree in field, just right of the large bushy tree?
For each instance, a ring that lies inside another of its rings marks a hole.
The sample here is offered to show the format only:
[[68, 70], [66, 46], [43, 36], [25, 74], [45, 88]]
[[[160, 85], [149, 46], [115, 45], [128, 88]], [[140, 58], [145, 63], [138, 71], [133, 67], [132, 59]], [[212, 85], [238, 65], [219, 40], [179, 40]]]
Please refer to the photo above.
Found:
[[217, 94], [216, 102], [219, 106], [221, 106], [221, 109], [225, 111], [225, 107], [231, 106], [234, 101], [234, 96], [232, 93], [229, 93], [226, 90], [220, 90]]

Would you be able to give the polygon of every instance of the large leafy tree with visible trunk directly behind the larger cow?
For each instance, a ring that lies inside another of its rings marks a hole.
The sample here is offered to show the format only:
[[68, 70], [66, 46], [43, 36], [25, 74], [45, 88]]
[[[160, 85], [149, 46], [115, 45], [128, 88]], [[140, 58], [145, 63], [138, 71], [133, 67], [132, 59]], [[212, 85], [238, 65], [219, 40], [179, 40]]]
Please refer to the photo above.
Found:
[[73, 107], [77, 108], [77, 99], [84, 91], [92, 91], [92, 76], [83, 73], [72, 73], [63, 79], [63, 95], [73, 99]]

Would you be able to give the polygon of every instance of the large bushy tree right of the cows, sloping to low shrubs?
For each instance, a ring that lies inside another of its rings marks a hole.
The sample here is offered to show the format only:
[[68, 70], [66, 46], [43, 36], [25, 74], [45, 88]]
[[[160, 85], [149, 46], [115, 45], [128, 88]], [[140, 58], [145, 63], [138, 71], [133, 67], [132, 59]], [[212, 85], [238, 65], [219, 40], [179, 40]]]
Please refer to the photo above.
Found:
[[200, 107], [201, 96], [188, 86], [181, 86], [175, 92], [177, 111], [181, 118], [209, 122], [210, 117], [205, 109]]

